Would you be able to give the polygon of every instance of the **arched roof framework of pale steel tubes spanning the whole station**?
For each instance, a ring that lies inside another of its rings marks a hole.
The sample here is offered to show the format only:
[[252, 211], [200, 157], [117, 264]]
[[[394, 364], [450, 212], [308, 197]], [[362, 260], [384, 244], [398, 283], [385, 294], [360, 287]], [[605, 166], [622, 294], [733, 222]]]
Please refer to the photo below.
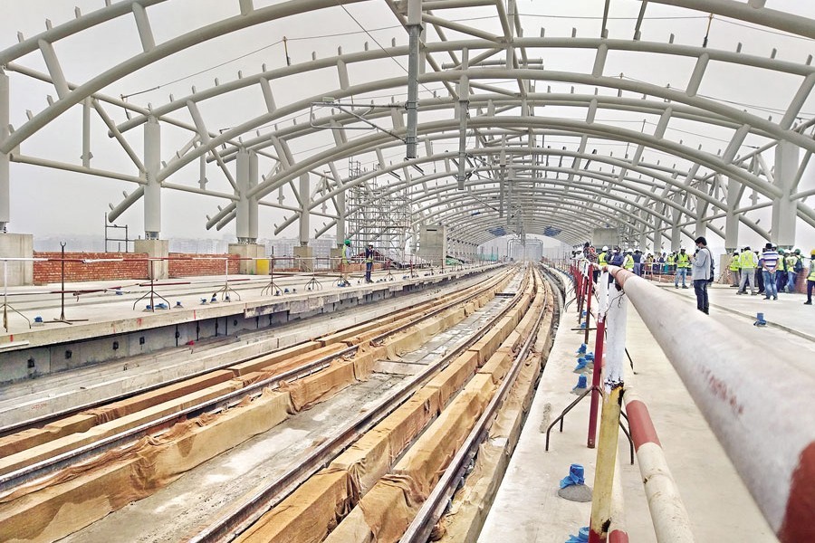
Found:
[[[656, 249], [706, 233], [727, 248], [740, 233], [791, 246], [798, 229], [815, 227], [806, 203], [815, 195], [815, 9], [780, 3], [791, 11], [765, 0], [576, 2], [593, 35], [563, 27], [580, 23], [569, 15], [551, 35], [540, 24], [549, 15], [521, 0], [234, 0], [210, 3], [208, 19], [201, 2], [184, 0], [77, 8], [0, 52], [0, 226], [17, 212], [9, 185], [19, 163], [129, 186], [109, 220], [140, 202], [154, 238], [161, 195], [173, 190], [211, 196], [202, 226], [235, 222], [241, 242], [258, 237], [262, 207], [284, 215], [275, 234], [300, 224], [306, 240], [309, 230], [341, 240], [357, 211], [346, 192], [379, 179], [408, 195], [414, 232], [444, 224], [469, 246], [505, 233], [581, 243], [600, 226]], [[689, 30], [657, 39], [666, 21]], [[327, 32], [329, 22], [348, 32]], [[95, 43], [111, 25], [128, 52], [72, 81], [66, 67], [87, 58], [62, 45]], [[328, 54], [292, 61], [282, 32], [298, 26]], [[342, 36], [352, 31], [369, 41], [349, 51]], [[258, 43], [258, 32], [271, 38]], [[743, 51], [756, 35], [788, 44], [787, 54]], [[158, 93], [165, 85], [123, 91], [134, 74], [224, 40], [238, 56], [281, 45], [285, 54], [229, 81], [232, 68], [207, 68], [215, 84], [176, 84], [168, 98]], [[48, 95], [42, 110], [14, 109], [25, 81]], [[28, 151], [61, 119], [79, 125], [78, 162]], [[116, 159], [93, 156], [99, 127]], [[353, 174], [350, 160], [364, 171]]]

